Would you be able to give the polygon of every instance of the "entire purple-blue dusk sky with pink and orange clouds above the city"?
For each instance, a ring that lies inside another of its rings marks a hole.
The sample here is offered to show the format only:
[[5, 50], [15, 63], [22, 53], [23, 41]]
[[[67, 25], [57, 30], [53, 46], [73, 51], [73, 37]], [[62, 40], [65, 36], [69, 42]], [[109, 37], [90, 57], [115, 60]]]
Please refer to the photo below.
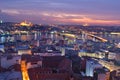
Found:
[[120, 0], [0, 0], [0, 20], [120, 25]]

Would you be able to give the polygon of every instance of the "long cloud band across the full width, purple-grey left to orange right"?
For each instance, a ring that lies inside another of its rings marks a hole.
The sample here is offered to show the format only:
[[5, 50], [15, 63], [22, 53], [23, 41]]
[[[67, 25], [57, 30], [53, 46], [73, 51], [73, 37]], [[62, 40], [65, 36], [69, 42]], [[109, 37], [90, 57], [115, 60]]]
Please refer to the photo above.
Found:
[[[41, 12], [32, 10], [1, 10], [0, 19], [4, 21], [23, 21], [28, 20], [34, 23], [66, 23], [66, 24], [114, 24], [120, 25], [120, 20], [100, 19], [100, 16], [91, 16], [63, 12]], [[98, 19], [96, 19], [96, 17]]]

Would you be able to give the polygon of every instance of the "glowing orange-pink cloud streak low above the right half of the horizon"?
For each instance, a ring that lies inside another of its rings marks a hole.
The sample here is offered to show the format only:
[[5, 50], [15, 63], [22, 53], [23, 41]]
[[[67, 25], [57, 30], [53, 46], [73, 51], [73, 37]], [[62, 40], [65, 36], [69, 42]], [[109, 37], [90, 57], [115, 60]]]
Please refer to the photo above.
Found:
[[72, 24], [98, 24], [98, 25], [120, 25], [120, 20], [101, 20], [101, 19], [92, 19], [92, 18], [81, 18], [81, 19], [57, 19], [61, 22], [72, 23]]

